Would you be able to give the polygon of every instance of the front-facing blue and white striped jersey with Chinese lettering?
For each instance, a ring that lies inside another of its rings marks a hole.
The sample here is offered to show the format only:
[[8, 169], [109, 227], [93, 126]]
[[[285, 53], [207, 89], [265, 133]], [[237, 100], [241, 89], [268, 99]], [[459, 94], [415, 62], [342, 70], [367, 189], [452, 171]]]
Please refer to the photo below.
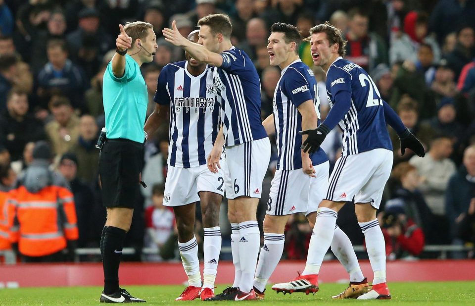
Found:
[[219, 131], [212, 67], [206, 66], [195, 77], [187, 65], [187, 61], [180, 61], [163, 67], [153, 98], [170, 105], [168, 164], [179, 168], [206, 164]]

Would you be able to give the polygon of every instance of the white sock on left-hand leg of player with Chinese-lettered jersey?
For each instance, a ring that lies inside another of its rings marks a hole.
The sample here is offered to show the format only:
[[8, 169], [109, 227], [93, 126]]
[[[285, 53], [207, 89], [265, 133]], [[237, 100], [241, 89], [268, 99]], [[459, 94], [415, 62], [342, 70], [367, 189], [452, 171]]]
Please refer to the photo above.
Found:
[[178, 242], [180, 257], [182, 257], [183, 267], [188, 275], [188, 285], [201, 287], [201, 275], [199, 274], [198, 261], [198, 243], [196, 237], [193, 236], [190, 241]]

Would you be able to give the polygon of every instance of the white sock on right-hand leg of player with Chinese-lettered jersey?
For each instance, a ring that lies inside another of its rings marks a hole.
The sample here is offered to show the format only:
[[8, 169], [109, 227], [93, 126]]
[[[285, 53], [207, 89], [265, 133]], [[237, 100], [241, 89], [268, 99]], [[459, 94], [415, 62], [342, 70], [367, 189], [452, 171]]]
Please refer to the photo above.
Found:
[[203, 288], [213, 288], [219, 253], [221, 252], [221, 231], [219, 226], [204, 229], [203, 253]]

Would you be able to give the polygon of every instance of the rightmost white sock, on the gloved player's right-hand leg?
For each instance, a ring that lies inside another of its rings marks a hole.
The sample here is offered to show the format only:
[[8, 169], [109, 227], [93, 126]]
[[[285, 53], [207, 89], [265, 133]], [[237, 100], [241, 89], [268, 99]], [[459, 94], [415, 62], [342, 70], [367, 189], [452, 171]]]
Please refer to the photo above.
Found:
[[378, 219], [369, 222], [358, 222], [365, 235], [366, 250], [370, 257], [371, 267], [375, 273], [373, 285], [386, 282], [386, 245]]

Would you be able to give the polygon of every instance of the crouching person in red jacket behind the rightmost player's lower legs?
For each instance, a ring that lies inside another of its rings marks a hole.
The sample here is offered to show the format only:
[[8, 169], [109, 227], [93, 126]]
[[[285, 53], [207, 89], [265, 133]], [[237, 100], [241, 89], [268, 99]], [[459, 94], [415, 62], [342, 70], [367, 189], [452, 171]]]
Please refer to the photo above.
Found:
[[420, 255], [425, 243], [423, 231], [406, 216], [402, 207], [393, 206], [386, 208], [381, 224], [387, 259]]

